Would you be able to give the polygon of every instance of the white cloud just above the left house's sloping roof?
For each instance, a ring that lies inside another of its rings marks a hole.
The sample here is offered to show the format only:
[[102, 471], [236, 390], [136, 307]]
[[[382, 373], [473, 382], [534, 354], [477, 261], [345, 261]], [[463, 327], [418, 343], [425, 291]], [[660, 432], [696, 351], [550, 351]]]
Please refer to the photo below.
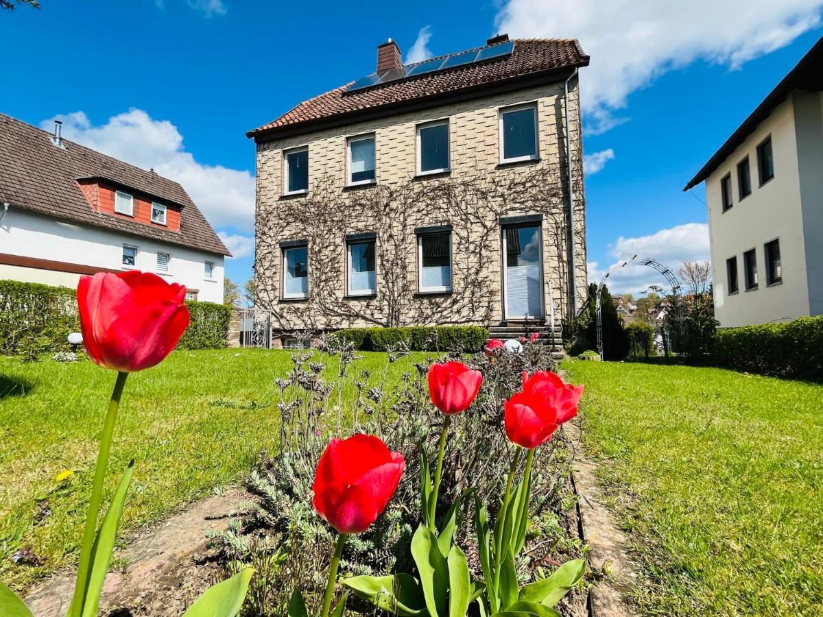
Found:
[[142, 109], [129, 109], [100, 125], [81, 111], [58, 114], [40, 127], [63, 120], [63, 137], [143, 169], [154, 170], [183, 185], [212, 226], [251, 231], [254, 225], [254, 179], [246, 170], [203, 165], [187, 152], [183, 136], [168, 120], [155, 120]]

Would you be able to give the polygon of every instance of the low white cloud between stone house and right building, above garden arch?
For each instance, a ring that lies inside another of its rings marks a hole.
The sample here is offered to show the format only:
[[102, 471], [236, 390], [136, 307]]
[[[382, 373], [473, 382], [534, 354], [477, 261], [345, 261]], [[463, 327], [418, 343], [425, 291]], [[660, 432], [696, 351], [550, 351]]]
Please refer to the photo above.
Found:
[[[600, 282], [612, 267], [630, 260], [635, 255], [638, 256], [638, 261], [649, 257], [671, 268], [672, 271], [677, 271], [682, 262], [702, 262], [709, 259], [709, 225], [686, 223], [636, 238], [621, 236], [609, 245], [609, 253], [615, 258], [615, 262], [608, 267], [600, 267], [597, 262], [588, 262], [589, 281]], [[660, 285], [668, 290], [663, 275], [636, 262], [612, 271], [607, 279], [609, 290], [617, 293], [638, 294], [648, 290], [650, 285]]]

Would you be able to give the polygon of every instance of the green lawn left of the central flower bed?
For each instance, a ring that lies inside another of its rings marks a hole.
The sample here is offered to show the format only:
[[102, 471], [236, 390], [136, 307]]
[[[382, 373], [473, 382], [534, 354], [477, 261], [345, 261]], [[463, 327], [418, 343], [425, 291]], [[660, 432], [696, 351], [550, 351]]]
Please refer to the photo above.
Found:
[[[287, 351], [176, 351], [154, 369], [128, 378], [109, 474], [114, 489], [128, 460], [137, 462], [124, 526], [165, 517], [213, 487], [239, 480], [263, 449], [277, 448], [274, 383], [292, 366]], [[363, 353], [350, 371], [369, 369], [380, 386], [386, 354]], [[386, 390], [409, 368], [388, 365]], [[327, 367], [333, 381], [337, 360]], [[97, 438], [115, 373], [89, 361], [24, 364], [0, 358], [0, 579], [25, 587], [72, 563], [85, 516]], [[348, 381], [346, 410], [356, 397]], [[337, 403], [337, 392], [329, 397]], [[331, 403], [330, 403], [331, 404]], [[60, 471], [75, 475], [58, 483]], [[40, 516], [48, 499], [51, 514]], [[30, 546], [42, 566], [21, 568], [12, 554]]]

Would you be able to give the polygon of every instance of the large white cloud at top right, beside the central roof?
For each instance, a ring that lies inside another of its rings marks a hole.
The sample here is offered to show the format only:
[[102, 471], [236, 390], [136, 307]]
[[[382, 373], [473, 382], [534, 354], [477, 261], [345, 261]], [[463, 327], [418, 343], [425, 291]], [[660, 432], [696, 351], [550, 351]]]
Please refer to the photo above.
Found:
[[823, 0], [508, 0], [495, 30], [517, 37], [573, 37], [592, 60], [582, 95], [589, 132], [625, 118], [626, 97], [695, 60], [736, 69], [821, 24]]

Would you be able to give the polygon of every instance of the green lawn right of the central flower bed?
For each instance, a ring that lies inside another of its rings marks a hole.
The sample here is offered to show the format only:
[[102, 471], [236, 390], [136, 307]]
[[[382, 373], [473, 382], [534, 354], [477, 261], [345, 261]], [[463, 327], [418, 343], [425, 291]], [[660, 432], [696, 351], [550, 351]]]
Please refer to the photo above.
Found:
[[569, 361], [646, 615], [823, 615], [823, 386]]

